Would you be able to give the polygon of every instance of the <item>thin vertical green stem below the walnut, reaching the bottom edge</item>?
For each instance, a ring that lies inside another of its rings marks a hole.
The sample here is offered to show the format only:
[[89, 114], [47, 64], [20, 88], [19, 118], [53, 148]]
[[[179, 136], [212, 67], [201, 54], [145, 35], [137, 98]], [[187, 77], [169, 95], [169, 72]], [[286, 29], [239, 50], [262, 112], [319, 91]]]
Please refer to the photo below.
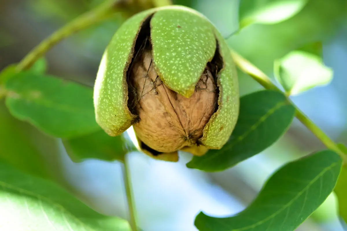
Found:
[[131, 185], [131, 177], [130, 177], [130, 169], [129, 169], [129, 161], [128, 155], [124, 156], [124, 164], [123, 164], [123, 180], [125, 186], [125, 193], [127, 196], [127, 203], [129, 209], [129, 223], [132, 231], [138, 231], [136, 225], [136, 217], [135, 217], [135, 203], [133, 198], [133, 190]]

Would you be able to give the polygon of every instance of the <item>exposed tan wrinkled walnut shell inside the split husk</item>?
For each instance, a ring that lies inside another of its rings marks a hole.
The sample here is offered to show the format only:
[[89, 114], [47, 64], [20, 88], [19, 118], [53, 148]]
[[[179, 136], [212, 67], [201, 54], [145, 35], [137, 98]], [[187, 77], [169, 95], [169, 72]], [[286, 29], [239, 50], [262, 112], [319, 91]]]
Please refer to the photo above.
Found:
[[215, 111], [217, 86], [208, 68], [190, 98], [169, 89], [155, 71], [150, 50], [133, 63], [128, 80], [133, 99], [130, 110], [139, 116], [136, 135], [151, 149], [175, 152], [196, 145]]

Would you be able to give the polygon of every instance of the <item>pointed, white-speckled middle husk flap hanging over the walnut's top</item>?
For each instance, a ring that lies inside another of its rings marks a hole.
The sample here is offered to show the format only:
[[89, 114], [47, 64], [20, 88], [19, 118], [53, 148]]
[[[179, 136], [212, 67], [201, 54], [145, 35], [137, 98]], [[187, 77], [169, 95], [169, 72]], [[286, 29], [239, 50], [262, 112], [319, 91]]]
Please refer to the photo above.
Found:
[[210, 21], [186, 7], [159, 10], [151, 20], [151, 42], [155, 70], [163, 83], [191, 97], [216, 49]]

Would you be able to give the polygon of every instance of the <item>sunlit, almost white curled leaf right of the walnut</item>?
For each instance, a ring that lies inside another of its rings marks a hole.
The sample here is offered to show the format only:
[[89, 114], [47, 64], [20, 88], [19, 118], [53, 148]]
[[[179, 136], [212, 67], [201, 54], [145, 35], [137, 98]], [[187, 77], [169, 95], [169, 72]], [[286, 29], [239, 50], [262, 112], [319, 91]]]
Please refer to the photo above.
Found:
[[292, 51], [274, 62], [274, 74], [288, 95], [297, 95], [313, 87], [328, 84], [332, 80], [333, 71], [325, 66], [317, 55]]

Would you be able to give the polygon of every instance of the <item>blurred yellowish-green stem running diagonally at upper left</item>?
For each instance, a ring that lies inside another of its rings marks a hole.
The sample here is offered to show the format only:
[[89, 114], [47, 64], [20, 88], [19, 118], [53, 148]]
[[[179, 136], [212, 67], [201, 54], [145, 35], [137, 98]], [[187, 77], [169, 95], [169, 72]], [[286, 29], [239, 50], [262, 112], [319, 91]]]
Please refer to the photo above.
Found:
[[34, 49], [18, 63], [16, 71], [19, 72], [30, 68], [37, 59], [39, 59], [44, 53], [50, 50], [50, 48], [52, 48], [62, 39], [110, 17], [114, 12], [122, 9], [124, 4], [124, 0], [107, 0], [99, 7], [80, 15], [68, 24], [56, 30], [48, 38], [44, 39], [39, 45], [34, 47]]

